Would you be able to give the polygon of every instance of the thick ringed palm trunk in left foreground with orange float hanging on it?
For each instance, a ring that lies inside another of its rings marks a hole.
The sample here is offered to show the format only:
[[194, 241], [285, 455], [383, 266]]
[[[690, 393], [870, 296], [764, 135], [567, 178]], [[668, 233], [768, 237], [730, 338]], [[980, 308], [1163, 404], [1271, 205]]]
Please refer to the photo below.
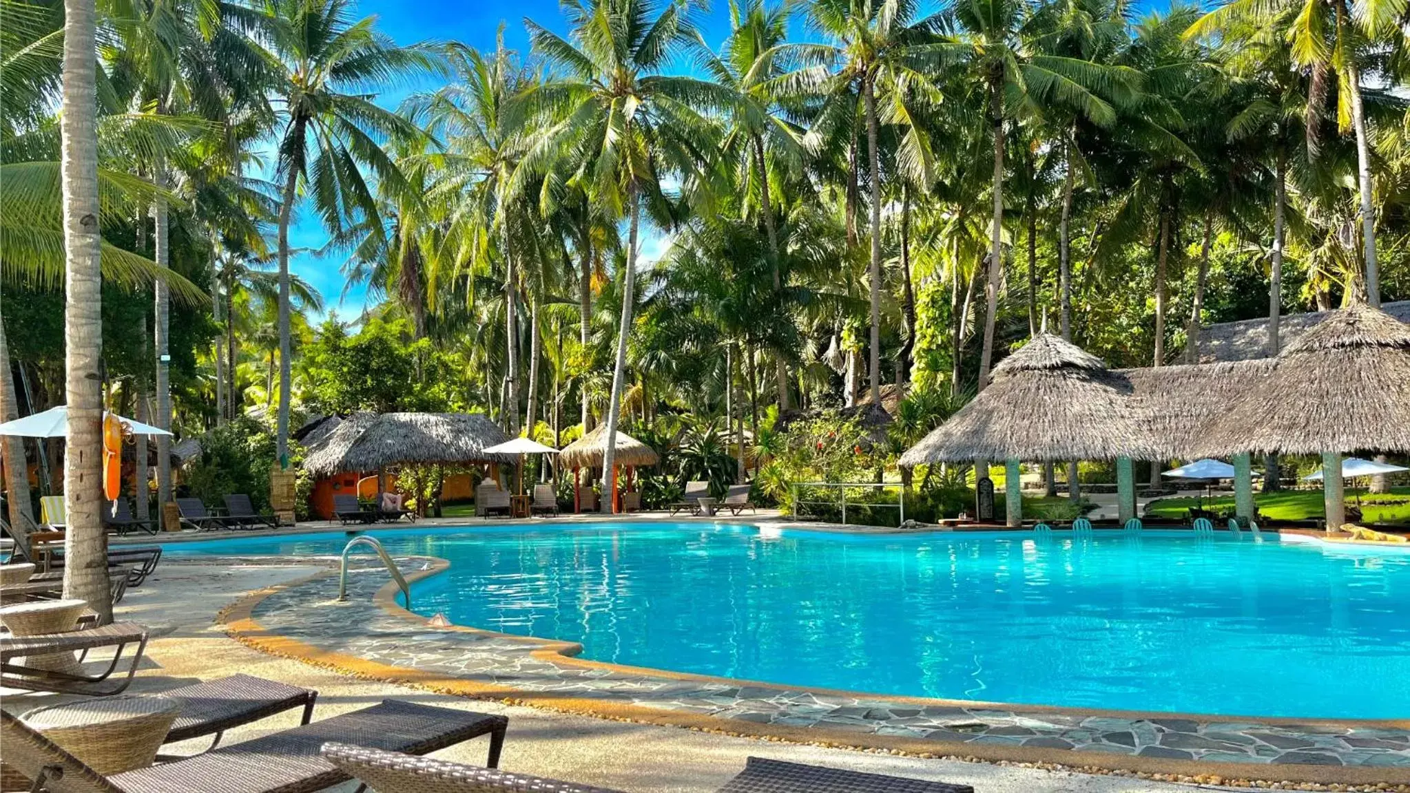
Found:
[[63, 597], [86, 600], [113, 621], [103, 531], [103, 311], [97, 200], [97, 13], [93, 0], [63, 0], [63, 99], [59, 113], [63, 251], [68, 285], [63, 369], [69, 406], [63, 455]]

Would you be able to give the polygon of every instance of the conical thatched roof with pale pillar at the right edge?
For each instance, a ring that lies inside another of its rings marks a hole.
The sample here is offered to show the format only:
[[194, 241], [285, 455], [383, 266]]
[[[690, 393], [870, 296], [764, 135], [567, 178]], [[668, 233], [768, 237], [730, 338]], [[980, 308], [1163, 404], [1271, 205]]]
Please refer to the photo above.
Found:
[[1200, 451], [1320, 454], [1328, 531], [1347, 517], [1342, 455], [1410, 452], [1410, 325], [1385, 311], [1337, 311], [1252, 386], [1211, 423]]

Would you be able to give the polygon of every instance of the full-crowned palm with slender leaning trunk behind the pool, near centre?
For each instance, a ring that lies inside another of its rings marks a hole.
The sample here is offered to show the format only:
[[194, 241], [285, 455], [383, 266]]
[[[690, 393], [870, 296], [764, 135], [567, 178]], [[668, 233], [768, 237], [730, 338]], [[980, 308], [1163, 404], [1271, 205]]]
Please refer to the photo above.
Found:
[[[602, 461], [603, 493], [612, 493], [642, 201], [661, 199], [661, 175], [668, 169], [682, 173], [685, 190], [698, 182], [715, 132], [694, 107], [728, 107], [732, 97], [713, 83], [658, 73], [680, 46], [698, 39], [689, 6], [657, 0], [564, 0], [563, 10], [571, 41], [525, 20], [534, 51], [565, 75], [563, 80], [529, 89], [525, 100], [526, 108], [548, 120], [533, 142], [540, 158], [580, 163], [571, 179], [588, 185], [592, 200], [629, 218]], [[520, 168], [539, 173], [546, 170], [543, 165], [530, 154]], [[613, 500], [605, 497], [603, 510], [611, 510]]]

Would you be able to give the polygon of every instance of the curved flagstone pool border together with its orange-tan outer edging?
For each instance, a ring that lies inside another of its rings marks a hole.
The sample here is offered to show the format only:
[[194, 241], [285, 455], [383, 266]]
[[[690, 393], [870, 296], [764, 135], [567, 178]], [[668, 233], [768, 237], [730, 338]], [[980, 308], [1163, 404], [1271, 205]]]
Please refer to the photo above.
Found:
[[[427, 566], [407, 576], [412, 582], [450, 566], [444, 559], [413, 559]], [[1410, 721], [1026, 707], [785, 687], [643, 669], [575, 658], [581, 645], [574, 642], [431, 625], [396, 603], [395, 585], [368, 590], [368, 576], [351, 577], [354, 603], [340, 607], [352, 606], [344, 611], [352, 616], [341, 621], [329, 611], [307, 608], [326, 604], [327, 597], [317, 596], [333, 592], [331, 570], [251, 593], [226, 608], [217, 621], [243, 644], [341, 673], [602, 718], [918, 756], [1170, 775], [1200, 782], [1218, 778], [1410, 785]], [[295, 592], [302, 597], [296, 599]], [[321, 625], [314, 624], [319, 620]], [[409, 644], [407, 625], [416, 627], [417, 652], [403, 647]], [[343, 637], [329, 635], [340, 630]], [[1241, 756], [1262, 762], [1242, 762]], [[1304, 765], [1344, 761], [1366, 765]], [[1385, 765], [1371, 765], [1376, 762]]]

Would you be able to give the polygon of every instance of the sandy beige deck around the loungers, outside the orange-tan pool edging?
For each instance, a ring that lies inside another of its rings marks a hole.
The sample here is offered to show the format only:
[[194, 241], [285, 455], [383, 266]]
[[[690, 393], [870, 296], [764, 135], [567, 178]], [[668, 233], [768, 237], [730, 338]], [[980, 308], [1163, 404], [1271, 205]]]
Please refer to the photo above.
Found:
[[[257, 675], [319, 690], [314, 718], [355, 710], [396, 697], [446, 707], [498, 713], [509, 717], [509, 737], [501, 766], [506, 770], [615, 787], [629, 793], [711, 792], [744, 766], [750, 755], [971, 785], [980, 793], [1134, 793], [1189, 792], [1213, 785], [1180, 785], [1120, 775], [1084, 775], [1069, 770], [893, 756], [823, 747], [736, 738], [715, 732], [657, 727], [629, 721], [563, 714], [499, 701], [470, 700], [386, 682], [364, 680], [300, 661], [268, 655], [230, 638], [216, 624], [217, 614], [243, 594], [303, 579], [313, 566], [243, 566], [164, 561], [140, 589], [128, 590], [117, 607], [118, 618], [148, 625], [154, 641], [147, 662], [130, 693], [159, 693], [195, 680], [233, 673]], [[59, 701], [48, 694], [8, 694], [10, 713]], [[231, 731], [224, 744], [292, 727], [293, 713]], [[178, 752], [197, 752], [206, 741], [176, 745]], [[436, 756], [478, 763], [484, 739], [453, 747]], [[337, 790], [352, 790], [355, 785]]]

